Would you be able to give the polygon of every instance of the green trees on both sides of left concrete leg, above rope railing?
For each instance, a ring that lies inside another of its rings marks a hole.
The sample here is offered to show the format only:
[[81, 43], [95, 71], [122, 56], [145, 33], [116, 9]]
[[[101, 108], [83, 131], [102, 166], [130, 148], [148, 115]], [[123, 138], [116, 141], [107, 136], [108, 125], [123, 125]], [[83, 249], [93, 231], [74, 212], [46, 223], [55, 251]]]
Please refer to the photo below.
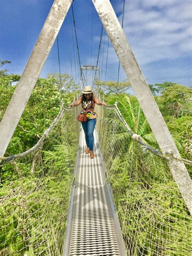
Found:
[[[6, 107], [11, 100], [15, 87], [11, 86], [17, 75], [0, 77], [0, 119], [2, 119]], [[26, 105], [23, 115], [9, 143], [6, 155], [17, 154], [32, 147], [58, 114], [61, 107], [61, 99], [69, 104], [68, 98], [58, 92], [52, 77], [39, 78]]]

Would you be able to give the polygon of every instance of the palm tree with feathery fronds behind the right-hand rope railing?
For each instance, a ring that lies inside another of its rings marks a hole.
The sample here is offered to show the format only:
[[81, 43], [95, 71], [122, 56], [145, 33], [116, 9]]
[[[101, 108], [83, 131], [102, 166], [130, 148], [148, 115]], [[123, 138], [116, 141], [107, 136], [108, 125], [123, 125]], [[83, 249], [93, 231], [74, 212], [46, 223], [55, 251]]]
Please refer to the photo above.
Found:
[[[107, 104], [113, 105], [116, 101], [116, 96], [111, 95], [111, 97], [109, 98], [111, 99], [108, 100]], [[145, 143], [160, 150], [158, 143], [154, 137], [154, 134], [151, 132], [151, 128], [139, 105], [137, 98], [135, 96], [119, 95], [117, 96], [117, 102], [117, 107], [119, 108], [119, 111], [122, 113], [130, 129], [134, 133], [141, 135]], [[139, 166], [143, 166], [141, 162], [145, 162], [145, 168], [151, 170], [151, 175], [152, 173], [154, 173], [155, 176], [157, 175], [157, 172], [159, 172], [159, 170], [157, 169], [157, 166], [159, 164], [158, 158], [155, 162], [153, 154], [149, 154], [148, 152], [145, 151], [143, 147], [141, 147], [141, 145], [138, 145], [138, 143], [134, 142], [128, 132], [118, 134], [117, 141], [115, 141], [114, 143], [118, 144], [119, 139], [123, 140], [124, 143], [122, 144], [126, 145], [125, 152], [122, 152], [122, 155], [124, 155], [123, 161], [125, 161], [123, 162], [123, 164], [126, 164], [128, 162], [127, 159], [132, 159], [132, 161], [130, 161], [129, 163], [134, 163], [135, 165], [137, 165], [138, 172], [140, 172], [141, 170], [139, 169]], [[160, 177], [160, 173], [158, 173], [158, 175]]]

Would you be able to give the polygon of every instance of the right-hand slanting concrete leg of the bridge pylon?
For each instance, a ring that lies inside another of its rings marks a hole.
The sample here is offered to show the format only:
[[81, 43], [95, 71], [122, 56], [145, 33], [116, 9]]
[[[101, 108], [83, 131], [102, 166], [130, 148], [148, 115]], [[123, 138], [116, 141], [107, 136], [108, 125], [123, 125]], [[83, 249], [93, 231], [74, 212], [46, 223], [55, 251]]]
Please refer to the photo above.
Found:
[[[124, 68], [134, 93], [139, 100], [160, 149], [163, 154], [166, 151], [172, 151], [175, 155], [180, 156], [110, 1], [92, 0], [92, 2], [94, 3], [96, 11], [117, 53], [119, 61]], [[177, 160], [170, 161], [169, 167], [183, 199], [192, 214], [192, 181], [188, 171], [185, 165]]]

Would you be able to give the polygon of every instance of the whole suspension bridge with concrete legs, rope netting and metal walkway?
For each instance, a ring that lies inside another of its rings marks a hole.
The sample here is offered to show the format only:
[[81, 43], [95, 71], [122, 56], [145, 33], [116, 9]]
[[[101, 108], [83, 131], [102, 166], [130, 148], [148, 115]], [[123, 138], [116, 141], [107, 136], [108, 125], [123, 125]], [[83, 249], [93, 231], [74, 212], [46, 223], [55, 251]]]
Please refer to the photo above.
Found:
[[[134, 134], [116, 102], [96, 106], [94, 159], [84, 154], [80, 109], [64, 105], [34, 147], [4, 157], [71, 2], [53, 3], [1, 122], [1, 254], [191, 255], [191, 162], [179, 155], [108, 0], [93, 3], [162, 153]], [[83, 76], [80, 56], [79, 65]]]

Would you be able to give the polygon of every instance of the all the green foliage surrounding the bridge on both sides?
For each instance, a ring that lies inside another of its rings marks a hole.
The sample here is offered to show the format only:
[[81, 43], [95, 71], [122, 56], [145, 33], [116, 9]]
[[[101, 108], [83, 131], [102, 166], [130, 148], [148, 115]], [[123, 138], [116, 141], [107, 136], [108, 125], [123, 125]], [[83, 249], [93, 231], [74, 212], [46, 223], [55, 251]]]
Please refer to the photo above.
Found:
[[[0, 118], [16, 88], [11, 84], [18, 80], [17, 75], [0, 76]], [[108, 91], [107, 103], [114, 104], [117, 99], [130, 128], [158, 148], [137, 99], [117, 94], [127, 90], [129, 83], [107, 83], [98, 83], [107, 86], [103, 86]], [[32, 147], [57, 115], [61, 100], [66, 105], [73, 100], [77, 93], [74, 89], [76, 85], [67, 74], [61, 81], [58, 74], [38, 79], [6, 154]], [[191, 90], [170, 82], [151, 85], [151, 90], [159, 94], [157, 103], [181, 156], [190, 158], [191, 117], [183, 109], [191, 109]], [[41, 151], [0, 169], [2, 255], [62, 254], [78, 141], [74, 135], [77, 124], [72, 120], [71, 114], [65, 113], [64, 121], [53, 130]], [[114, 123], [115, 133], [108, 129]], [[128, 254], [190, 255], [189, 212], [166, 163], [133, 142], [112, 111], [105, 116], [102, 136], [102, 154]]]

